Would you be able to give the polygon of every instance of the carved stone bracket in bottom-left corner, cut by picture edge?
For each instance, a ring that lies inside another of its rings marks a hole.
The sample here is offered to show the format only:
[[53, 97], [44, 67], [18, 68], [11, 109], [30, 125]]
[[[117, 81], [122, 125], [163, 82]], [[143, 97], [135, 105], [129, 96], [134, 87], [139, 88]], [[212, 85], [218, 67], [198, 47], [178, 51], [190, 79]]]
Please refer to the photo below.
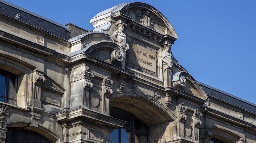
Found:
[[0, 104], [0, 143], [4, 143], [6, 139], [6, 126], [4, 125], [5, 117], [10, 115], [11, 107]]

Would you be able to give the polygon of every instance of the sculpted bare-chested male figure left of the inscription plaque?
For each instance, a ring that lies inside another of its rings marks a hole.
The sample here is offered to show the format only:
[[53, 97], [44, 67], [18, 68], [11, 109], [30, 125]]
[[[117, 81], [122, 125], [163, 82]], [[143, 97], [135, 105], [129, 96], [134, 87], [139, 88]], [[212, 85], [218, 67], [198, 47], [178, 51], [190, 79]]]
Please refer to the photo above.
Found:
[[129, 44], [126, 43], [126, 35], [123, 32], [124, 26], [127, 26], [127, 24], [120, 21], [117, 22], [116, 25], [118, 29], [112, 34], [112, 38], [115, 41], [115, 43], [119, 45], [125, 53], [126, 50], [128, 50], [130, 47]]

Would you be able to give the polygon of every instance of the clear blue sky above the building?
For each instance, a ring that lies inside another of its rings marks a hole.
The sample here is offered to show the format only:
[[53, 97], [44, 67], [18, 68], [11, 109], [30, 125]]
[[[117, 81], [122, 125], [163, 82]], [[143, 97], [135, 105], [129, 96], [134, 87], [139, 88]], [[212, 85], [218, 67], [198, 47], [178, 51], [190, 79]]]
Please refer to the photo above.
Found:
[[[65, 25], [92, 30], [90, 19], [133, 0], [7, 0]], [[196, 80], [256, 104], [256, 0], [145, 1], [172, 24], [174, 57]]]

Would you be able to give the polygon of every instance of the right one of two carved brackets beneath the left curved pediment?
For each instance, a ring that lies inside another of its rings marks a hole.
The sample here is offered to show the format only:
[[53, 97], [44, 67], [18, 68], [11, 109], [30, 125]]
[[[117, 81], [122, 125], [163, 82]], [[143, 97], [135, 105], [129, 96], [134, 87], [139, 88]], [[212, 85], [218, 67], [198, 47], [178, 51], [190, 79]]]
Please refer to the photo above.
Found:
[[103, 79], [102, 83], [102, 96], [103, 96], [103, 114], [109, 114], [109, 97], [113, 93], [111, 89], [113, 81], [109, 79], [109, 76], [106, 76]]

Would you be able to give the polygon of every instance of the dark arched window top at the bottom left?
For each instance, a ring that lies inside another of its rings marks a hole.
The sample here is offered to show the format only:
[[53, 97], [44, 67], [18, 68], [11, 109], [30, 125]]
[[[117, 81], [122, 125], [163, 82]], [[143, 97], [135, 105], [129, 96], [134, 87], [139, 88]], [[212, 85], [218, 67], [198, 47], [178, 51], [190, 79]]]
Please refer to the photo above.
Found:
[[51, 141], [30, 130], [7, 128], [6, 143], [51, 143]]

